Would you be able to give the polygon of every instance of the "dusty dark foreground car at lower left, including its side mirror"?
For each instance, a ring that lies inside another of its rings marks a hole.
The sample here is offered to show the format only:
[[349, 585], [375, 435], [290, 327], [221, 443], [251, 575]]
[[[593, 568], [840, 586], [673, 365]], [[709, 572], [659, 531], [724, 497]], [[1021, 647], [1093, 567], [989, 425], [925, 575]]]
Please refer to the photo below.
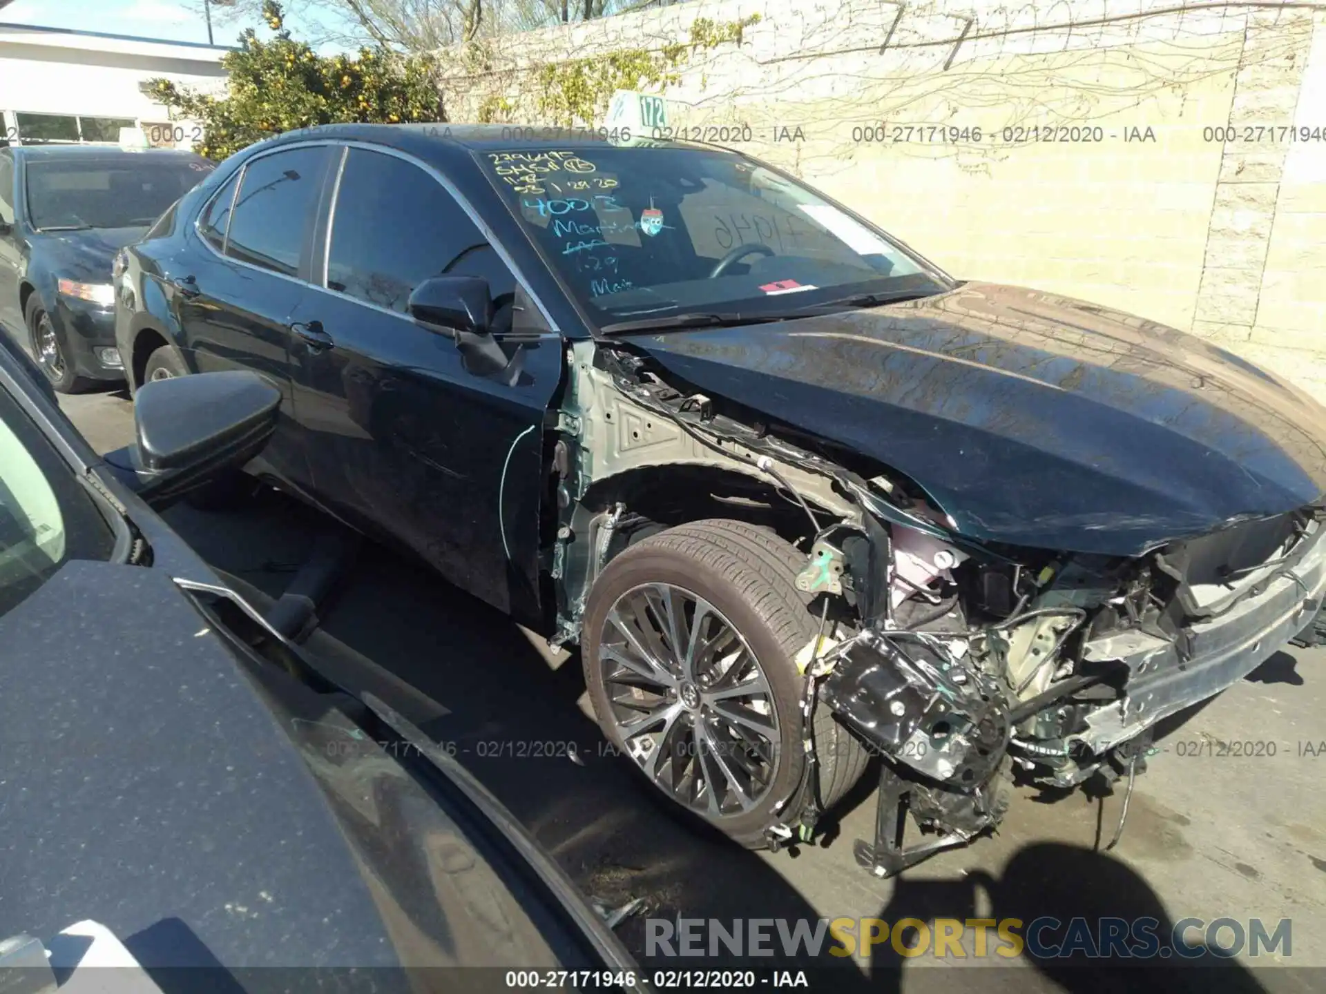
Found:
[[155, 513], [261, 449], [278, 396], [151, 384], [137, 444], [99, 457], [0, 339], [0, 987], [48, 989], [42, 948], [7, 944], [27, 934], [89, 966], [70, 989], [156, 990], [98, 974], [125, 966], [88, 949], [107, 930], [162, 990], [406, 991], [400, 967], [455, 966], [644, 986], [456, 759], [322, 676], [329, 636], [286, 639]]

